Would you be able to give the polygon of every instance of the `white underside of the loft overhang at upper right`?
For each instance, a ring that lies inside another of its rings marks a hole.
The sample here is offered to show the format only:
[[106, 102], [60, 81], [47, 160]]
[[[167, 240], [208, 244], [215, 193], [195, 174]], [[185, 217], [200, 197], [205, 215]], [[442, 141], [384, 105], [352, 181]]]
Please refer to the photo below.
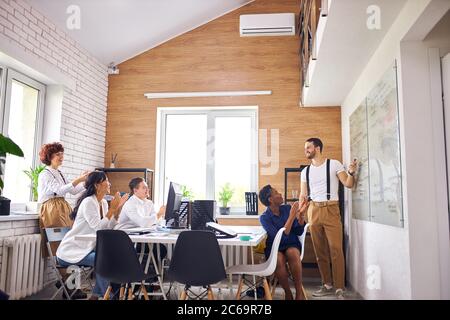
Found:
[[[342, 104], [405, 3], [406, 0], [330, 2], [310, 86], [303, 89], [305, 106]], [[366, 11], [370, 5], [380, 7], [380, 30], [367, 28]]]

